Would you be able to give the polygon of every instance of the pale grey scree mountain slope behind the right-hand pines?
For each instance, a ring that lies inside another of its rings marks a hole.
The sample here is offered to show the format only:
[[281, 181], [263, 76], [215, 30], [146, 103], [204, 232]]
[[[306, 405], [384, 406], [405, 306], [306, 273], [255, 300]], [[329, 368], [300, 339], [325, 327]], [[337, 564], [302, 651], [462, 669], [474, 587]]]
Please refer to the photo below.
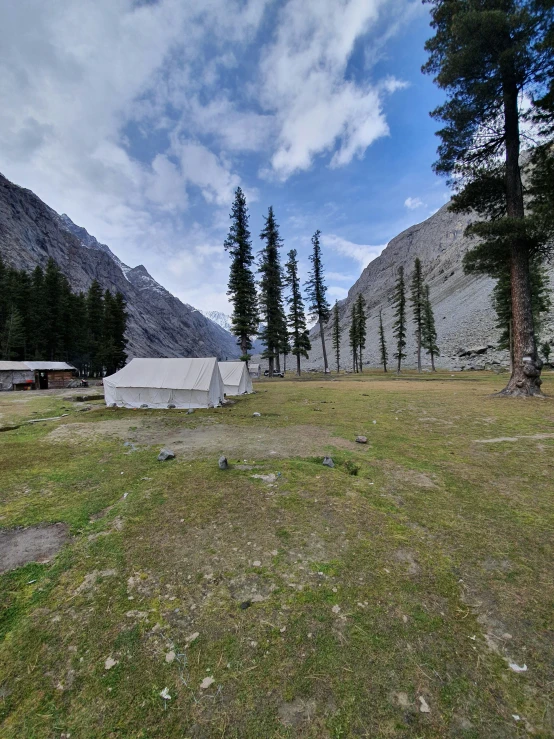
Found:
[[[465, 275], [462, 260], [472, 246], [464, 237], [464, 229], [471, 217], [452, 213], [448, 204], [423, 223], [411, 226], [396, 236], [381, 255], [368, 264], [357, 282], [348, 291], [348, 297], [339, 303], [339, 313], [343, 328], [341, 357], [343, 367], [350, 368], [352, 359], [348, 346], [348, 328], [352, 303], [358, 293], [362, 293], [367, 306], [367, 348], [364, 362], [370, 366], [380, 366], [378, 346], [379, 310], [383, 310], [383, 325], [389, 352], [389, 364], [394, 365], [395, 351], [392, 326], [394, 323], [392, 294], [398, 267], [403, 266], [406, 282], [413, 270], [414, 260], [422, 262], [423, 276], [429, 283], [431, 302], [435, 312], [438, 333], [438, 346], [441, 357], [437, 367], [444, 369], [470, 369], [481, 367], [507, 366], [508, 353], [497, 351], [499, 331], [495, 328], [496, 313], [491, 304], [494, 280], [488, 277]], [[550, 287], [554, 288], [554, 267], [549, 265]], [[411, 306], [408, 302], [408, 345], [407, 359], [403, 365], [415, 367], [416, 345]], [[327, 354], [332, 362], [331, 326], [326, 331]], [[554, 344], [554, 312], [550, 312], [541, 329], [541, 340], [548, 339]], [[311, 332], [312, 351], [307, 366], [323, 367], [321, 342], [317, 327]], [[425, 354], [423, 355], [424, 362]]]

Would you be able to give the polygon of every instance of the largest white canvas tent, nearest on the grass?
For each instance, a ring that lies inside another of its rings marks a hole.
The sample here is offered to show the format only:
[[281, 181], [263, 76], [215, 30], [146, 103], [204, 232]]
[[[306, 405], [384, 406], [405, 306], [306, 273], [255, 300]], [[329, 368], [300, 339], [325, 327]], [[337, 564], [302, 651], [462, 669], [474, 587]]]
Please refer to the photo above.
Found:
[[132, 359], [104, 378], [106, 405], [211, 408], [223, 400], [217, 359]]

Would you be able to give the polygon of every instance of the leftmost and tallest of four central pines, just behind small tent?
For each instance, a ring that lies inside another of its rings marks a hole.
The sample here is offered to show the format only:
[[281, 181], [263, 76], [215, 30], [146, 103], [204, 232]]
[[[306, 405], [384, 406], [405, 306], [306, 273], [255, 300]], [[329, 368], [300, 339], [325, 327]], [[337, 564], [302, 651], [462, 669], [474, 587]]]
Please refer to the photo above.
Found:
[[254, 256], [248, 229], [248, 208], [240, 187], [235, 191], [235, 200], [229, 217], [231, 226], [224, 246], [232, 260], [227, 292], [233, 305], [231, 325], [238, 339], [241, 359], [248, 362], [250, 359], [248, 350], [252, 348], [251, 337], [258, 332], [259, 318], [256, 281], [252, 272]]

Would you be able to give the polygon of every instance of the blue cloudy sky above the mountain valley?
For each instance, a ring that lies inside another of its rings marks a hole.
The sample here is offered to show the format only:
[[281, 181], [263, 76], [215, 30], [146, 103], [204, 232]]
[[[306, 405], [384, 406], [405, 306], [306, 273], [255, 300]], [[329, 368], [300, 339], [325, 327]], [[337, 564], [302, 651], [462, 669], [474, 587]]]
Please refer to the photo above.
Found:
[[0, 171], [182, 300], [228, 311], [233, 191], [342, 298], [446, 200], [420, 0], [0, 4]]

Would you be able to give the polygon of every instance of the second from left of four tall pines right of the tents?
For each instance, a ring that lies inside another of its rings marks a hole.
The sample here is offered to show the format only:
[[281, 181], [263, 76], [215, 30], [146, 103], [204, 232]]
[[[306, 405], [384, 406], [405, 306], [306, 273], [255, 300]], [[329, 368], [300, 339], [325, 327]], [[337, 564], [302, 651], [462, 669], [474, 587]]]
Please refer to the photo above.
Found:
[[260, 294], [258, 304], [264, 323], [259, 338], [265, 344], [262, 357], [269, 361], [269, 376], [273, 377], [274, 365], [279, 370], [279, 353], [283, 339], [283, 274], [279, 260], [279, 249], [283, 240], [279, 236], [279, 226], [270, 206], [265, 225], [260, 233], [265, 247], [260, 252]]

